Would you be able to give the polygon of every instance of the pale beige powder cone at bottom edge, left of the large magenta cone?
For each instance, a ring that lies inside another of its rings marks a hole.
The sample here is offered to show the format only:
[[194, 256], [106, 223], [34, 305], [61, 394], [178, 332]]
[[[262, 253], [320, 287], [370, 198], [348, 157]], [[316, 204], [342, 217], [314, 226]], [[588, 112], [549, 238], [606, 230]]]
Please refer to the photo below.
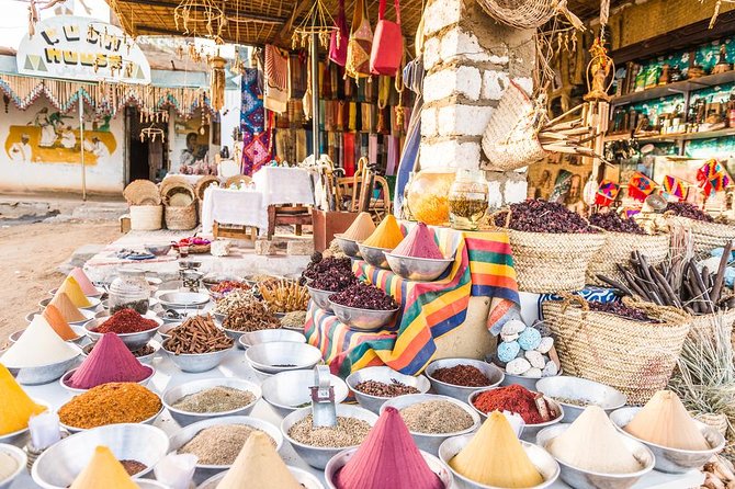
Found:
[[303, 489], [279, 456], [270, 437], [255, 432], [217, 485], [217, 489]]

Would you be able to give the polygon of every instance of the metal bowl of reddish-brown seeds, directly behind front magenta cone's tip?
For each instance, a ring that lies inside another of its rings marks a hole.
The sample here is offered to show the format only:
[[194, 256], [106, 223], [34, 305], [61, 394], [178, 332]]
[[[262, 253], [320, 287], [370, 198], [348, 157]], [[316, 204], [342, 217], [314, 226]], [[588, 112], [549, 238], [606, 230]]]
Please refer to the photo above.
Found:
[[423, 375], [414, 377], [388, 366], [361, 368], [348, 375], [346, 382], [360, 406], [376, 414], [392, 397], [426, 394], [431, 388], [429, 379]]

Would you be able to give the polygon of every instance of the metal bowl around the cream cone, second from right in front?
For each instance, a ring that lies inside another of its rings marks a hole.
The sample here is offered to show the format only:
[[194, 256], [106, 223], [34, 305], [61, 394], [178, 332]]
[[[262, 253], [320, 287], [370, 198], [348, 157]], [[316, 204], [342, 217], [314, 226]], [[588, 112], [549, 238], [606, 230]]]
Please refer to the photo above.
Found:
[[[563, 423], [541, 430], [536, 435], [536, 445], [545, 450], [552, 440], [568, 430], [570, 425]], [[554, 457], [562, 469], [562, 480], [576, 489], [629, 488], [633, 486], [641, 477], [654, 469], [656, 460], [654, 454], [643, 443], [622, 434], [621, 440], [643, 467], [641, 470], [632, 474], [602, 474], [574, 467]]]

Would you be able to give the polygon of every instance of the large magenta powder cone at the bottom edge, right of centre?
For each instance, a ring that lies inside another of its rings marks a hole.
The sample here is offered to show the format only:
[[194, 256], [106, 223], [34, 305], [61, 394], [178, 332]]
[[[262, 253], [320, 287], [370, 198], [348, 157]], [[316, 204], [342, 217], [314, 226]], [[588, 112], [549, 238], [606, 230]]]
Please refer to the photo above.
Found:
[[383, 411], [352, 458], [335, 476], [335, 485], [337, 489], [445, 489], [395, 408]]

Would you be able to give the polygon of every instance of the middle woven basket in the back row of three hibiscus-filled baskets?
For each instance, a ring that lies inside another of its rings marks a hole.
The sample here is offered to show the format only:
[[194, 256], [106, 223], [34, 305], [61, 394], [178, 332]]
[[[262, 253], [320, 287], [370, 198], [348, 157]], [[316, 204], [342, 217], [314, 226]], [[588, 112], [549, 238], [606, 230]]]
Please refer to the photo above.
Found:
[[587, 269], [587, 283], [606, 285], [597, 278], [604, 275], [615, 281], [622, 281], [623, 276], [615, 264], [627, 263], [633, 251], [640, 251], [646, 257], [648, 264], [657, 265], [668, 257], [670, 237], [668, 234], [660, 235], [633, 235], [630, 232], [606, 232], [606, 240], [600, 251], [595, 253]]

